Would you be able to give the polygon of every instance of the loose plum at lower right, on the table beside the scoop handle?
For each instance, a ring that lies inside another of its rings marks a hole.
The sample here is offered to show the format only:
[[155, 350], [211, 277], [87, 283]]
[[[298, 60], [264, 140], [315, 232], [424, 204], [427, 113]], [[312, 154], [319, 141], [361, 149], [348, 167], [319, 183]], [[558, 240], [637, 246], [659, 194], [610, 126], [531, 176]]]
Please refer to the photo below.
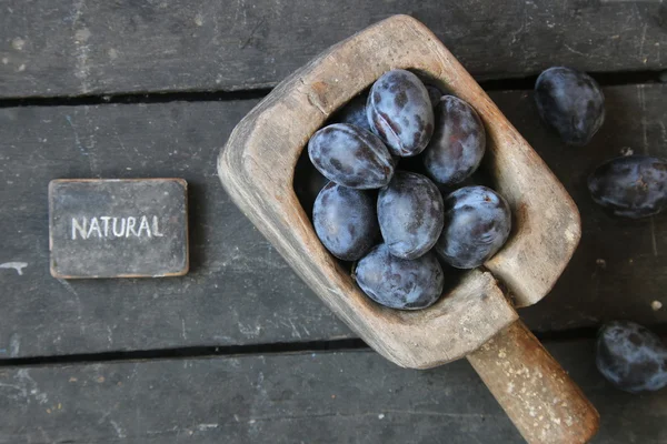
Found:
[[603, 376], [626, 392], [653, 392], [667, 385], [667, 347], [655, 333], [635, 322], [603, 325], [595, 363]]

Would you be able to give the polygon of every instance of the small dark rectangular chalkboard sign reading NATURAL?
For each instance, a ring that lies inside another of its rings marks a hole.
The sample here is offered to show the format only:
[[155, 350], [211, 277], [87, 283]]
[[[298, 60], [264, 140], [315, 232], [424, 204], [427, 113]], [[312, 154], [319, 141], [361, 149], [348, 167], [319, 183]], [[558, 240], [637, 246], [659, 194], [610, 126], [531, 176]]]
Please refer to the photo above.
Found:
[[51, 274], [62, 279], [186, 274], [187, 190], [182, 179], [51, 181]]

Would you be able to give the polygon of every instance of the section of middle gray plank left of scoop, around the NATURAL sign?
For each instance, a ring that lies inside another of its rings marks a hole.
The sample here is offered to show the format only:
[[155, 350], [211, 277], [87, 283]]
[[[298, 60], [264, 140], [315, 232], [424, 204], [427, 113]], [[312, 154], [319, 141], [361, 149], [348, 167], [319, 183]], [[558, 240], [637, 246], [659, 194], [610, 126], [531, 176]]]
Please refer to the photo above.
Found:
[[[216, 158], [249, 102], [0, 110], [0, 356], [349, 336], [228, 200]], [[56, 280], [48, 183], [188, 181], [183, 278]]]

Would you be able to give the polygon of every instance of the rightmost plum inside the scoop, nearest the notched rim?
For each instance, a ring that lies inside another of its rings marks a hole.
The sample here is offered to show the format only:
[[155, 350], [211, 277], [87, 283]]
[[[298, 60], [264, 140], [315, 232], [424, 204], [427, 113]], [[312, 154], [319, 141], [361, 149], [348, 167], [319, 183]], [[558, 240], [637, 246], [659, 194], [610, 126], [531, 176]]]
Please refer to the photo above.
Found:
[[507, 241], [511, 214], [507, 201], [486, 186], [461, 188], [445, 199], [445, 228], [436, 251], [457, 269], [474, 269]]

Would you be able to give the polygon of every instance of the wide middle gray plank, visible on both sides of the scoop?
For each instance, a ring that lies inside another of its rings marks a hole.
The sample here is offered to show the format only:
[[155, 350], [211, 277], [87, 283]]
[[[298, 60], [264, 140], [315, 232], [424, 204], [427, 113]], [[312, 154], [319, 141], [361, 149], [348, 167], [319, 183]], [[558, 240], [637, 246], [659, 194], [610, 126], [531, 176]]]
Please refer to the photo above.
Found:
[[[629, 317], [667, 321], [667, 218], [617, 220], [585, 179], [624, 148], [667, 157], [667, 85], [607, 88], [607, 122], [584, 149], [539, 123], [530, 92], [491, 98], [579, 205], [584, 234], [550, 295], [522, 309], [540, 332]], [[0, 356], [352, 337], [229, 202], [216, 157], [256, 101], [0, 110]], [[19, 124], [20, 122], [20, 124]], [[48, 266], [47, 185], [57, 178], [183, 178], [191, 271], [165, 280], [57, 281]], [[261, 270], [261, 272], [257, 272]], [[20, 271], [20, 273], [19, 273]]]

